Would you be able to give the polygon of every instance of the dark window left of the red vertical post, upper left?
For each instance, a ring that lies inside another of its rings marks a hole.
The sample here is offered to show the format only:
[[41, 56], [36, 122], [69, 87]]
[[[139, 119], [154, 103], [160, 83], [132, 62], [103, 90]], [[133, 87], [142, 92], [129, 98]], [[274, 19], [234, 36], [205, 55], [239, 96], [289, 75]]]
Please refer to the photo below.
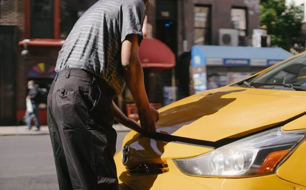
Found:
[[54, 0], [31, 0], [31, 38], [54, 38]]

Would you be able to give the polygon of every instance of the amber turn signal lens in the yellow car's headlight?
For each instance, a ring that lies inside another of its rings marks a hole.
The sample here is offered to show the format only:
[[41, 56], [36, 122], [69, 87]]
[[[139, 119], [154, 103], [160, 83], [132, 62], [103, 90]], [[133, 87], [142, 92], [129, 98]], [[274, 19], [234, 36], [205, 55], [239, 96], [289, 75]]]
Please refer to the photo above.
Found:
[[274, 170], [274, 167], [276, 164], [284, 158], [284, 156], [290, 151], [290, 149], [282, 150], [282, 151], [276, 151], [270, 153], [263, 164], [260, 166], [260, 168], [257, 170], [256, 174], [261, 173], [270, 173]]

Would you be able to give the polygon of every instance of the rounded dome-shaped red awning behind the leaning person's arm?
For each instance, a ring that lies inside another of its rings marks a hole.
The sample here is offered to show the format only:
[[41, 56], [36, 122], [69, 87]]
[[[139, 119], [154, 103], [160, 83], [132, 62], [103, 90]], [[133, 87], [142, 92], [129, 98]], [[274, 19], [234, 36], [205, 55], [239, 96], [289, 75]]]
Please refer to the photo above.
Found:
[[139, 58], [143, 67], [168, 69], [175, 66], [175, 54], [162, 41], [144, 38], [139, 48]]

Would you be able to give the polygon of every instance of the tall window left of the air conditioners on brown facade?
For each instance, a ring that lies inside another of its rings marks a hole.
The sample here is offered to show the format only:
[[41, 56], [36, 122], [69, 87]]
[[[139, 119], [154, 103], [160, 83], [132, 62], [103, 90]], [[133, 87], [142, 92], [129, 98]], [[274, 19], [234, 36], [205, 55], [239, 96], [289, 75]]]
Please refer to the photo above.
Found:
[[210, 45], [210, 8], [205, 6], [194, 7], [194, 44]]

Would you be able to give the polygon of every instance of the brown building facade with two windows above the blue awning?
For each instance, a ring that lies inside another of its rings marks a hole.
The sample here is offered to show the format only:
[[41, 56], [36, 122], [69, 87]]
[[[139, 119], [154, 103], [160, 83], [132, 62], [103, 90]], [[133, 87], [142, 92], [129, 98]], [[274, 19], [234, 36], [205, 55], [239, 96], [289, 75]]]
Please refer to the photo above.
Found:
[[[175, 43], [177, 55], [193, 45], [219, 45], [221, 28], [238, 29], [239, 45], [247, 45], [244, 37], [259, 27], [259, 0], [154, 0], [149, 10], [153, 37]], [[169, 22], [175, 24], [170, 35], [176, 40], [166, 39]]]

